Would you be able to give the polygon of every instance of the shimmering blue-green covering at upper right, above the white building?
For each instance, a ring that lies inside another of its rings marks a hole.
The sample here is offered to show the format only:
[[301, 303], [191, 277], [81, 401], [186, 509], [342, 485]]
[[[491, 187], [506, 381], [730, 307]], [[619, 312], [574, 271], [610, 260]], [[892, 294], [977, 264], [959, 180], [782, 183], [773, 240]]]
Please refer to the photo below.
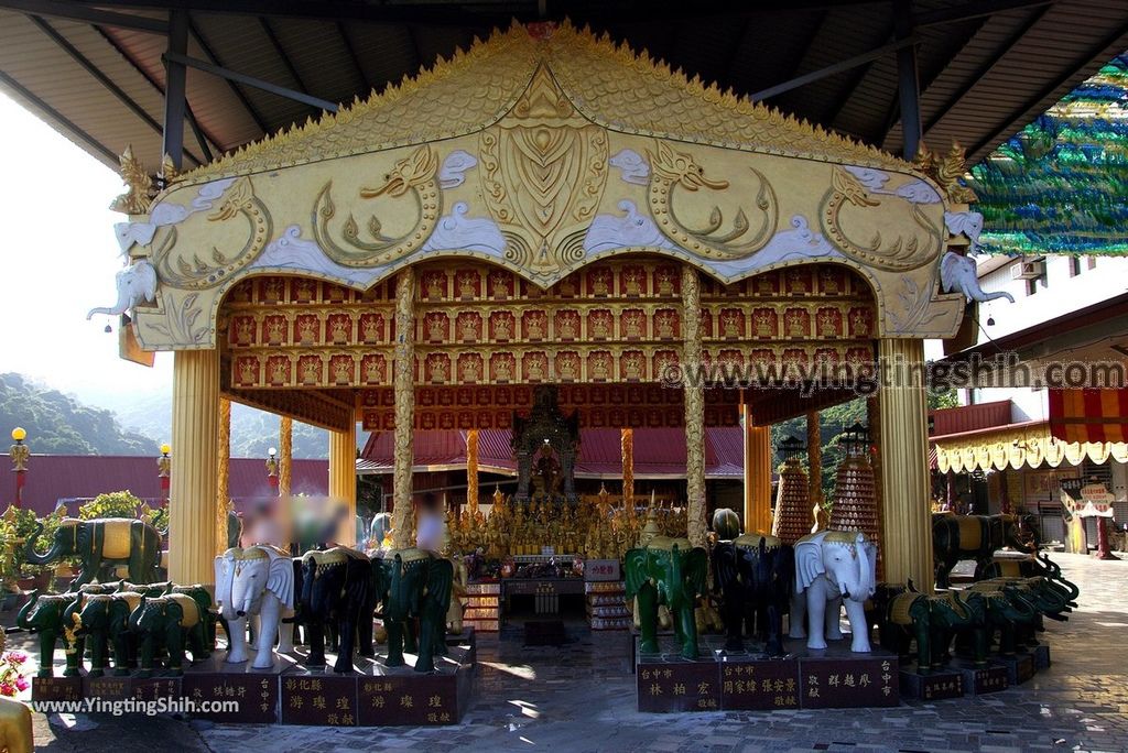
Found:
[[971, 168], [990, 254], [1128, 254], [1128, 53]]

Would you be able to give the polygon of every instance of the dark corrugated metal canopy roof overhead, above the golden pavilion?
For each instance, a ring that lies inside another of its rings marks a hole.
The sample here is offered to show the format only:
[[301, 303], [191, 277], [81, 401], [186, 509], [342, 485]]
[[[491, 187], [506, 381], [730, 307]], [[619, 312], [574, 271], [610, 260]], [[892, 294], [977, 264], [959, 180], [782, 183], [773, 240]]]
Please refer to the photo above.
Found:
[[[89, 8], [63, 0], [49, 10], [65, 15], [71, 5]], [[106, 0], [98, 6], [141, 15], [136, 3]], [[449, 57], [474, 36], [485, 37], [493, 26], [504, 26], [510, 12], [536, 18], [536, 6], [532, 0], [496, 7], [411, 0], [298, 1], [276, 7], [248, 6], [245, 0], [177, 3], [191, 14], [190, 55], [331, 101], [365, 96], [431, 65], [439, 55]], [[946, 0], [916, 0], [914, 8], [918, 15], [953, 10]], [[973, 10], [975, 3], [967, 8]], [[266, 9], [272, 12], [264, 14]], [[715, 80], [746, 95], [871, 51], [892, 35], [891, 6], [881, 2], [831, 6], [781, 0], [739, 8], [708, 2], [668, 8], [576, 2], [567, 12], [573, 21], [607, 30], [636, 50], [646, 48], [690, 77]], [[144, 15], [162, 16], [159, 10]], [[59, 17], [45, 24], [160, 122], [161, 36]], [[943, 149], [954, 139], [979, 159], [1128, 48], [1128, 3], [1031, 3], [926, 26], [917, 29], [917, 39], [926, 140]], [[0, 89], [102, 161], [114, 165], [114, 156], [132, 143], [150, 168], [160, 163], [160, 134], [19, 11], [0, 10]], [[898, 150], [896, 83], [890, 54], [782, 94], [769, 104]], [[188, 73], [188, 103], [220, 150], [318, 114], [303, 104], [199, 71]], [[187, 125], [185, 134], [191, 154], [202, 158]]]

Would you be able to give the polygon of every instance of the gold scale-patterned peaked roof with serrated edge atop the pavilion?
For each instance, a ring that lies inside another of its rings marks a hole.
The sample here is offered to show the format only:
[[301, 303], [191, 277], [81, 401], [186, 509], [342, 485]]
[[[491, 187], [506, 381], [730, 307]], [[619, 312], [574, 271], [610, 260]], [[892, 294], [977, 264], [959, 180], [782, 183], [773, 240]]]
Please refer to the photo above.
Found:
[[581, 116], [610, 131], [743, 151], [907, 169], [872, 147], [752, 103], [569, 23], [513, 24], [431, 70], [336, 114], [268, 136], [180, 176], [250, 175], [475, 133], [518, 103], [547, 67]]

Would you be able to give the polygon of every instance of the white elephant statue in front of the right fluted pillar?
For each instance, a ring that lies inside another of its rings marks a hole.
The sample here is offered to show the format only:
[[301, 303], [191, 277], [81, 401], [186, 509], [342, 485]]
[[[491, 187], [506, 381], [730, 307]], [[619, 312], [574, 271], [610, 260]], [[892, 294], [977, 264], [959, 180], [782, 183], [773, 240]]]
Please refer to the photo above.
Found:
[[[800, 539], [795, 543], [791, 637], [805, 637], [808, 648], [826, 648], [828, 638], [843, 637], [838, 619], [845, 604], [853, 634], [851, 650], [869, 654], [865, 600], [878, 585], [876, 568], [878, 548], [861, 531], [820, 531]], [[807, 615], [809, 629], [804, 630]]]

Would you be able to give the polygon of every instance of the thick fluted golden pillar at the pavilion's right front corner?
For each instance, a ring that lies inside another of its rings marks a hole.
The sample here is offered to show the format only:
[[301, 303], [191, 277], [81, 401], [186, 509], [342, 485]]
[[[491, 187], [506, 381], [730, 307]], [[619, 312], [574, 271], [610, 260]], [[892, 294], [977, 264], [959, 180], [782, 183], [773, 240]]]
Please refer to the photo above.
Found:
[[924, 343], [881, 339], [878, 360], [882, 369], [878, 431], [885, 579], [905, 583], [913, 578], [920, 591], [929, 593], [933, 562]]

